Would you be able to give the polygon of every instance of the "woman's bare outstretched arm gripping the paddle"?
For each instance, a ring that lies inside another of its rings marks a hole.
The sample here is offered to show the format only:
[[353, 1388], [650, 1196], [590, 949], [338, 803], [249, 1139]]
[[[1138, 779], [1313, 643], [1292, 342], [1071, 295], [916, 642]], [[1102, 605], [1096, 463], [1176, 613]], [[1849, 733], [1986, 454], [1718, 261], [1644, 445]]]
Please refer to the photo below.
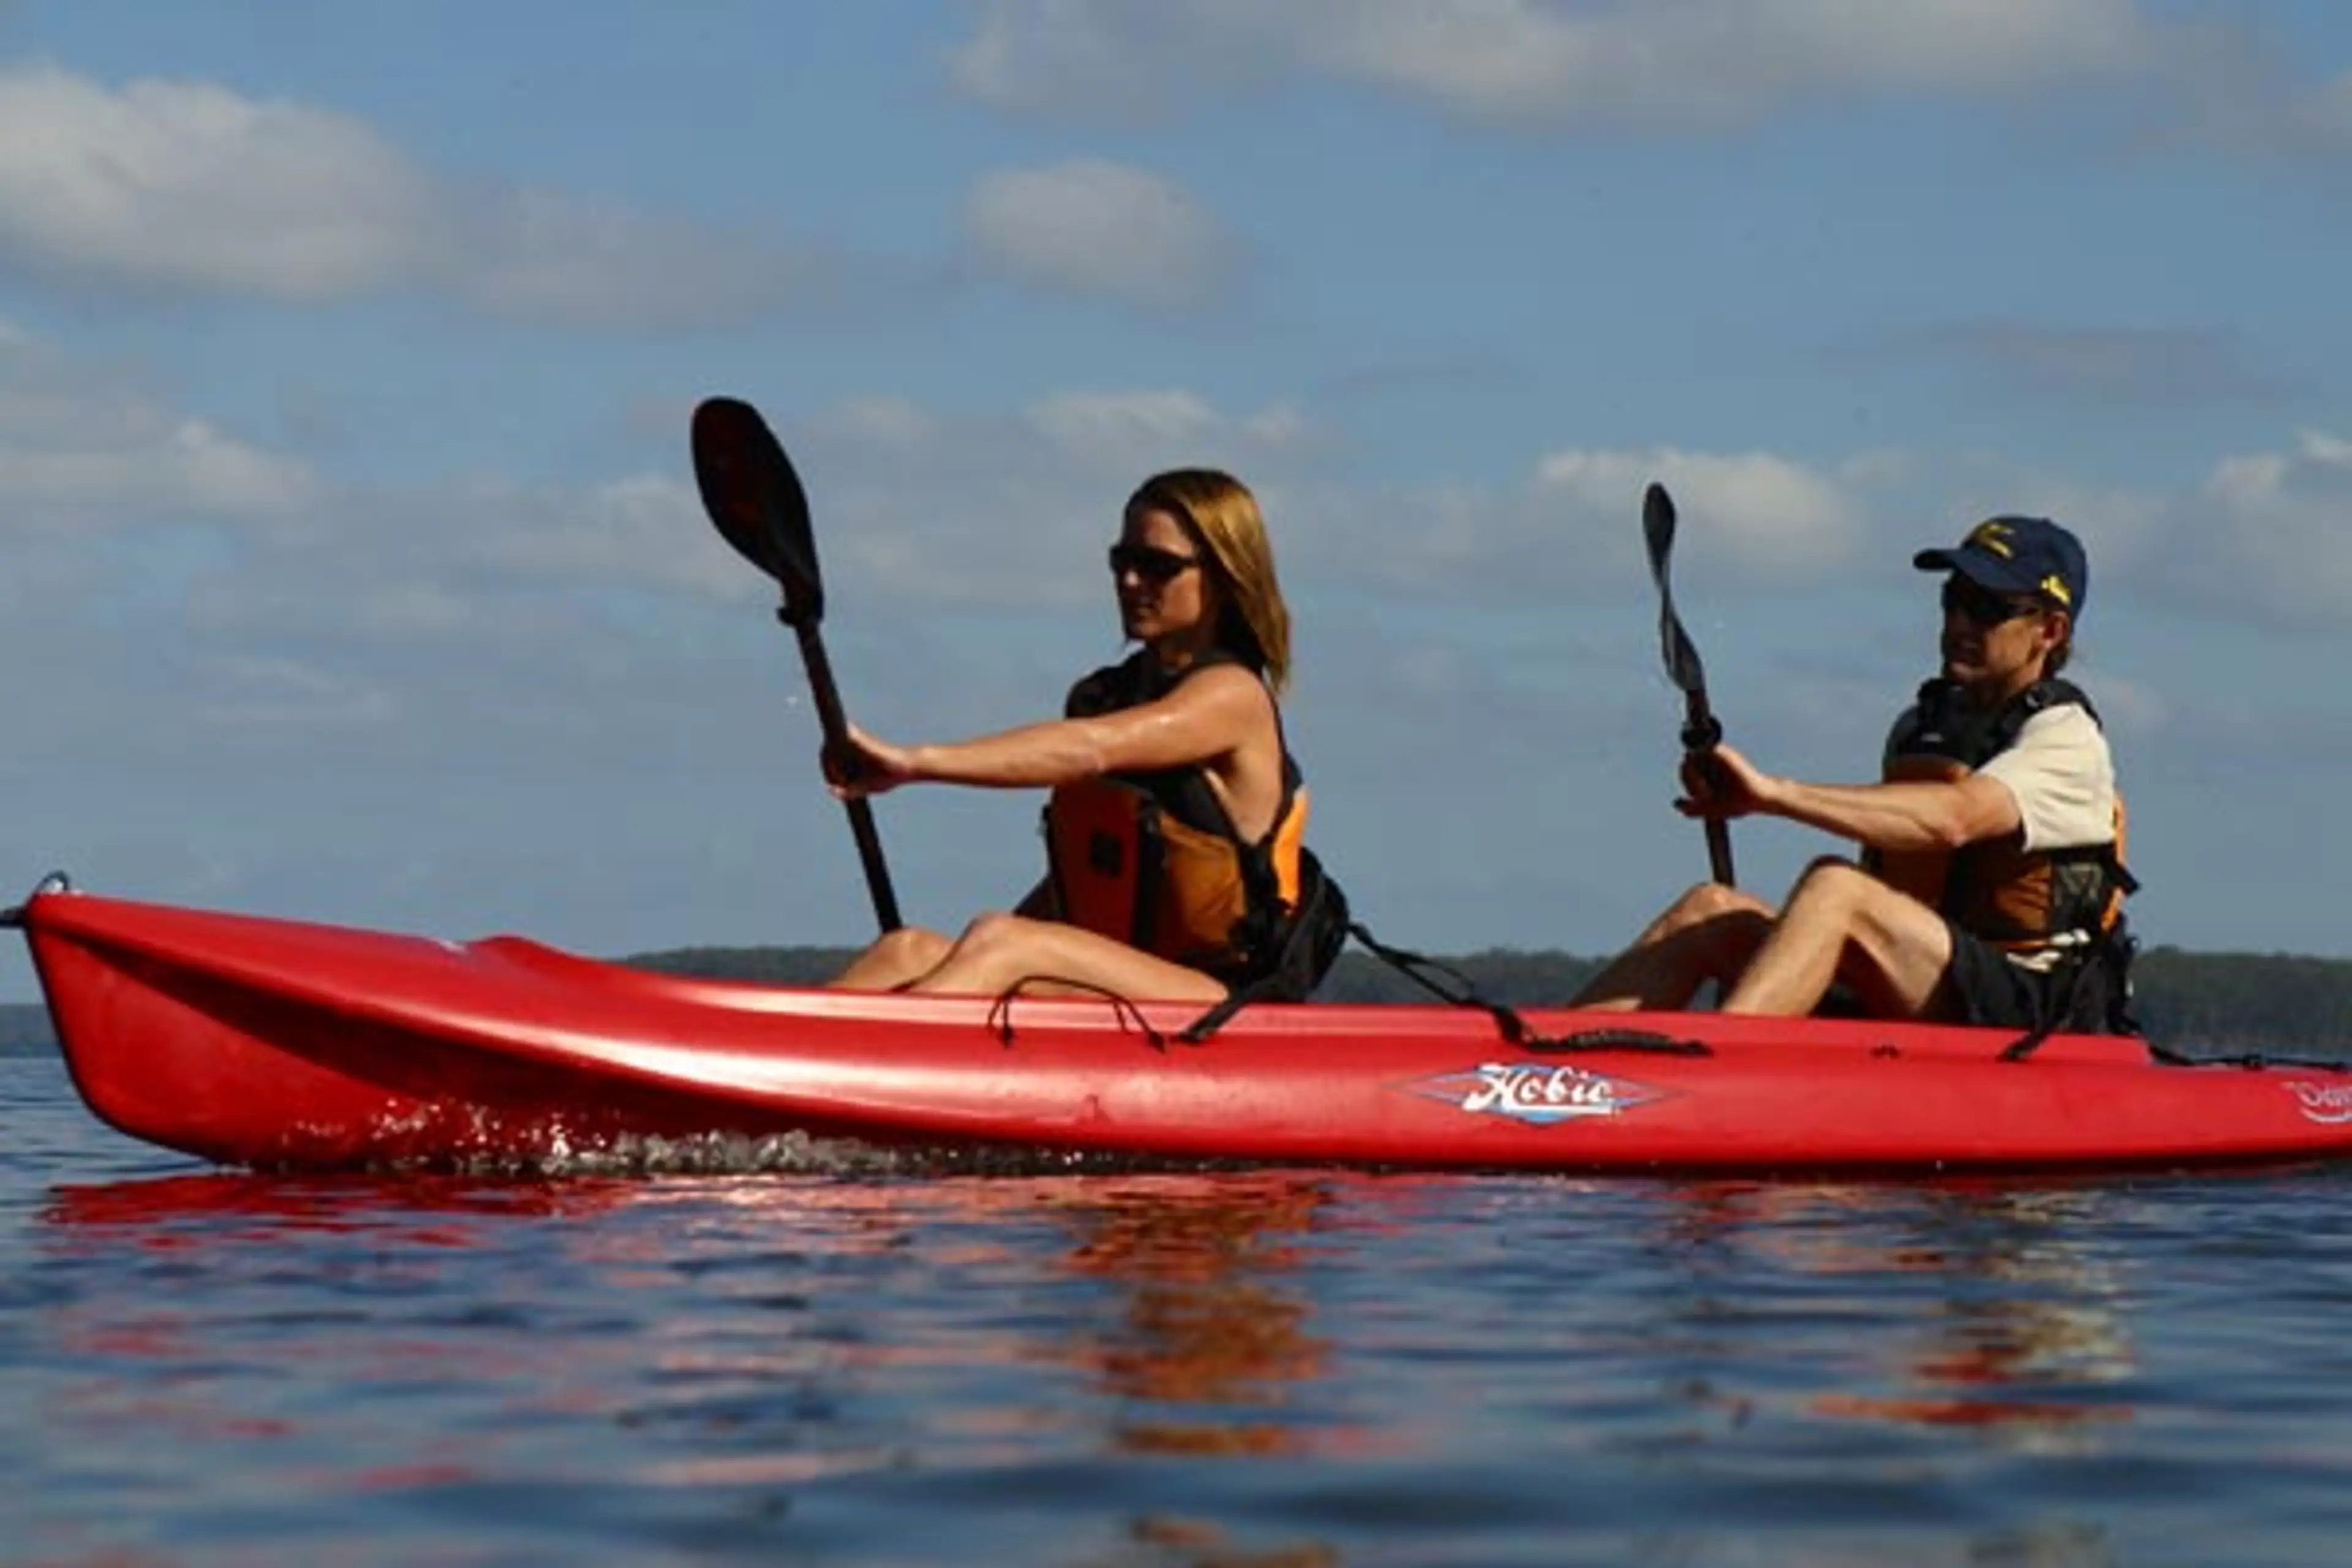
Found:
[[1263, 682], [1247, 670], [1221, 665], [1202, 670], [1141, 708], [1025, 724], [976, 741], [898, 748], [851, 731], [858, 776], [854, 783], [835, 778], [835, 790], [873, 795], [901, 783], [1021, 790], [1103, 773], [1176, 769], [1230, 755], [1268, 712]]

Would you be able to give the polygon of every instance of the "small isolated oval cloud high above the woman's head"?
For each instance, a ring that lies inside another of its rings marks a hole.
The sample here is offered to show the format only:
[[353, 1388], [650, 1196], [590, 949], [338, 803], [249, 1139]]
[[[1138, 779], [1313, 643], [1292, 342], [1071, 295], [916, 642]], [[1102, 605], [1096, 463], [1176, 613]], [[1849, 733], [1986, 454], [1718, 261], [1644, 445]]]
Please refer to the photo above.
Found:
[[1136, 306], [1200, 301], [1232, 261], [1183, 188], [1098, 158], [983, 174], [964, 197], [964, 235], [1014, 277]]

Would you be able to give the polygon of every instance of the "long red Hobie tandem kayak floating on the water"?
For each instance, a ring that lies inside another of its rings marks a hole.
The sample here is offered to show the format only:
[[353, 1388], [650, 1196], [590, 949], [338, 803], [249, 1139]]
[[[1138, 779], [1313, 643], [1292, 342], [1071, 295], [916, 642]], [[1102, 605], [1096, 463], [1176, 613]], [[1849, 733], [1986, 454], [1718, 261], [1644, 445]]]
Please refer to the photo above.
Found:
[[94, 898], [21, 910], [89, 1107], [254, 1166], [529, 1161], [802, 1131], [1141, 1164], [2011, 1173], [2352, 1154], [2352, 1077], [2131, 1039], [1451, 1006], [1200, 1009], [687, 980]]

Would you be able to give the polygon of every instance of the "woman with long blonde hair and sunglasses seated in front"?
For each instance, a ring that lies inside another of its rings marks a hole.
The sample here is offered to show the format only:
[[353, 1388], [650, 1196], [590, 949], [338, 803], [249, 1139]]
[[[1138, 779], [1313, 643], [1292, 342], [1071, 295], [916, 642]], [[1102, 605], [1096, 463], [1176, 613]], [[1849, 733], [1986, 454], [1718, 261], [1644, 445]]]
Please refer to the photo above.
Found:
[[1265, 978], [1301, 903], [1308, 795], [1282, 743], [1291, 616], [1258, 501], [1211, 468], [1155, 475], [1110, 548], [1136, 651], [1070, 689], [1063, 719], [950, 745], [858, 729], [840, 797], [906, 783], [1044, 788], [1047, 879], [953, 943], [887, 933], [849, 990], [997, 994], [1025, 980], [1218, 1001]]

